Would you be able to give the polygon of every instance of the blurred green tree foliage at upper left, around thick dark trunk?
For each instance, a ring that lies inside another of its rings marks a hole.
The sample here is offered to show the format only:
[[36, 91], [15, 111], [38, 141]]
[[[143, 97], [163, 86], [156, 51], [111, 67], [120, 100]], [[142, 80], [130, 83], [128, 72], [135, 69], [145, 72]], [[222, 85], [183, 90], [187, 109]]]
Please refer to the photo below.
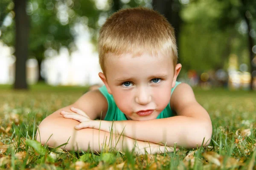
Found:
[[[10, 4], [13, 4], [11, 0], [0, 1], [0, 21], [9, 14], [14, 15], [14, 6]], [[4, 12], [2, 7], [6, 8]], [[41, 62], [48, 57], [45, 54], [47, 49], [58, 52], [64, 46], [70, 52], [76, 50], [74, 38], [79, 34], [75, 29], [77, 25], [86, 29], [88, 27], [93, 40], [96, 39], [96, 31], [93, 30], [97, 28], [100, 11], [93, 0], [28, 0], [23, 7], [24, 10], [26, 7], [26, 13], [30, 17], [29, 57], [38, 60], [40, 70]], [[2, 26], [0, 29], [3, 31], [1, 40], [14, 46], [14, 25]], [[41, 74], [39, 76], [43, 79]]]

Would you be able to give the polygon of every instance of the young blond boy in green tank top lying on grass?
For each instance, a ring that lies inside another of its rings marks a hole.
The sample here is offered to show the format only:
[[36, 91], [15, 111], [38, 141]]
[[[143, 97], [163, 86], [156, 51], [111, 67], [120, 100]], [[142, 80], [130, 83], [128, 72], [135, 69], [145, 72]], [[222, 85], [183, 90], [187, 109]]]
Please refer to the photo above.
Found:
[[37, 133], [42, 144], [68, 141], [67, 150], [96, 151], [135, 144], [139, 153], [209, 144], [210, 117], [192, 88], [176, 81], [174, 29], [161, 14], [147, 8], [114, 13], [99, 32], [99, 62], [105, 85], [45, 118]]

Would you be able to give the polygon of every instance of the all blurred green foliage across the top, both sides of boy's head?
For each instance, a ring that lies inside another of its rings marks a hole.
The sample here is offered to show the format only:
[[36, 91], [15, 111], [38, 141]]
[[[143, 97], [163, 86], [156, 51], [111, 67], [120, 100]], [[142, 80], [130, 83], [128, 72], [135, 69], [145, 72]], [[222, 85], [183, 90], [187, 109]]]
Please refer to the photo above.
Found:
[[[105, 19], [119, 8], [147, 6], [152, 0], [28, 0], [30, 16], [29, 57], [38, 62], [47, 56], [47, 49], [59, 51], [65, 46], [76, 50], [74, 40], [78, 26], [91, 34], [96, 45], [98, 31]], [[180, 26], [179, 56], [183, 72], [189, 69], [206, 71], [225, 68], [230, 54], [239, 56], [240, 63], [250, 65], [248, 59], [246, 15], [251, 23], [250, 36], [256, 38], [256, 1], [251, 0], [179, 0]], [[15, 16], [12, 0], [0, 1], [0, 40], [14, 45], [14, 22], [4, 26], [4, 18]], [[171, 10], [175, 10], [172, 8]]]

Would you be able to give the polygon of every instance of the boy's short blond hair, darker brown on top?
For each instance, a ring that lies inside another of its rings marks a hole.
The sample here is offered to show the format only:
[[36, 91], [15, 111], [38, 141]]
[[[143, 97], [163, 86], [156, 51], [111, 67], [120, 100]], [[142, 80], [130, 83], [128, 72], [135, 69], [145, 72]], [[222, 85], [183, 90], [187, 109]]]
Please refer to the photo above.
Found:
[[174, 28], [166, 18], [148, 8], [126, 8], [109, 17], [99, 31], [99, 63], [105, 74], [106, 54], [166, 54], [177, 64]]

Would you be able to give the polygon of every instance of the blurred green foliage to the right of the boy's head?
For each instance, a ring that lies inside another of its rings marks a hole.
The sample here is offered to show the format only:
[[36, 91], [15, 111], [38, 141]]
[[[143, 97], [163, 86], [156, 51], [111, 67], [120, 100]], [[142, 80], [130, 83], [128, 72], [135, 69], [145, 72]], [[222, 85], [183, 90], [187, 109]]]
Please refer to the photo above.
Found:
[[[183, 67], [197, 71], [225, 68], [230, 54], [250, 65], [244, 15], [250, 15], [255, 25], [255, 9], [256, 2], [249, 0], [191, 0], [183, 4], [179, 51]], [[255, 31], [251, 31], [255, 39]]]

